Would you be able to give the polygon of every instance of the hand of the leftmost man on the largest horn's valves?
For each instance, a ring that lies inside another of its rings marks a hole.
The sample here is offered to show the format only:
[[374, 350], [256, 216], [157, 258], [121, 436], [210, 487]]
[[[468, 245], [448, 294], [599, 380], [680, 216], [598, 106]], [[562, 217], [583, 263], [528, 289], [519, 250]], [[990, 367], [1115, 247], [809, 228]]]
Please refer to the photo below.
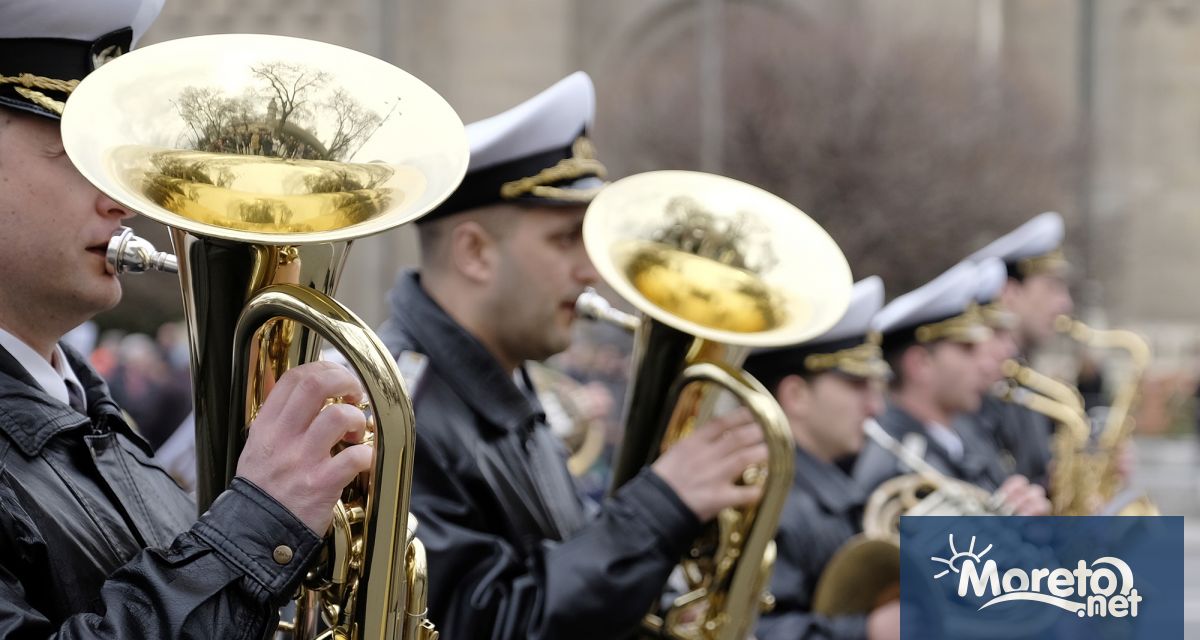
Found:
[[[368, 469], [374, 455], [370, 444], [355, 444], [366, 431], [366, 415], [354, 406], [362, 395], [358, 378], [341, 365], [316, 361], [288, 370], [251, 424], [238, 475], [324, 534], [342, 488]], [[332, 454], [341, 442], [350, 445]]]

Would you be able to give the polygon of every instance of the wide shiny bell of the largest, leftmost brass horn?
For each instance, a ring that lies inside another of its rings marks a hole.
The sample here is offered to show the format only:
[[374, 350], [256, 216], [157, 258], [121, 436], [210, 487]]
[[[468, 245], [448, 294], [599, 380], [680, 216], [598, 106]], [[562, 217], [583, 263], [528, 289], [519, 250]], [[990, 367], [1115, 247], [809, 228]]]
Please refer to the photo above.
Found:
[[114, 59], [72, 92], [62, 142], [124, 207], [265, 245], [350, 240], [415, 220], [454, 191], [468, 158], [462, 121], [415, 77], [266, 35], [190, 37]]

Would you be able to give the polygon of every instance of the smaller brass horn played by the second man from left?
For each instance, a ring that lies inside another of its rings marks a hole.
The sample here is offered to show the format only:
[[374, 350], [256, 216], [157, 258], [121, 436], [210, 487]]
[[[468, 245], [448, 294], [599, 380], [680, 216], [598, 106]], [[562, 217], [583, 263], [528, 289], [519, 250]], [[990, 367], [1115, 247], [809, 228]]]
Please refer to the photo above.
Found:
[[581, 316], [635, 333], [612, 489], [712, 415], [713, 385], [731, 391], [762, 425], [766, 473], [748, 469], [744, 477], [764, 483], [762, 500], [718, 516], [680, 561], [684, 593], [642, 624], [653, 638], [745, 638], [769, 606], [766, 588], [794, 451], [782, 409], [740, 366], [751, 347], [802, 342], [838, 322], [850, 304], [846, 258], [782, 199], [694, 172], [643, 173], [607, 186], [588, 208], [583, 240], [601, 277], [641, 311], [616, 311], [595, 294], [576, 304]]

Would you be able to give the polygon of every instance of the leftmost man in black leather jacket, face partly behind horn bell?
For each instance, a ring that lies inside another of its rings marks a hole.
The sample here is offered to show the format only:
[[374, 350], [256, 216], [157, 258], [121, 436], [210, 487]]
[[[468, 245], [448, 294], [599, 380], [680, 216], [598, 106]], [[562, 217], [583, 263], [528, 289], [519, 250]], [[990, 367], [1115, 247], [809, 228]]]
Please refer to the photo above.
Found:
[[[196, 506], [61, 342], [120, 300], [109, 238], [131, 213], [66, 157], [74, 83], [130, 49], [161, 2], [0, 2], [0, 636], [264, 638], [322, 549], [342, 488], [370, 467], [350, 445], [361, 396], [336, 365], [284, 375], [238, 478]], [[130, 96], [134, 98], [137, 96]], [[96, 122], [96, 126], [104, 126]]]

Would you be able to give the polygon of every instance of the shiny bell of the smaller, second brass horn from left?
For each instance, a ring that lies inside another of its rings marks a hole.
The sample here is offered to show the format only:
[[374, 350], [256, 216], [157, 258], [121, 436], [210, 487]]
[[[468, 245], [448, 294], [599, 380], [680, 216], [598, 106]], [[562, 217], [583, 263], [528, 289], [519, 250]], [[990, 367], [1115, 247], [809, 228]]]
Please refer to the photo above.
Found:
[[720, 175], [618, 180], [588, 208], [583, 239], [622, 298], [714, 342], [803, 342], [850, 304], [850, 265], [824, 229], [782, 198]]

